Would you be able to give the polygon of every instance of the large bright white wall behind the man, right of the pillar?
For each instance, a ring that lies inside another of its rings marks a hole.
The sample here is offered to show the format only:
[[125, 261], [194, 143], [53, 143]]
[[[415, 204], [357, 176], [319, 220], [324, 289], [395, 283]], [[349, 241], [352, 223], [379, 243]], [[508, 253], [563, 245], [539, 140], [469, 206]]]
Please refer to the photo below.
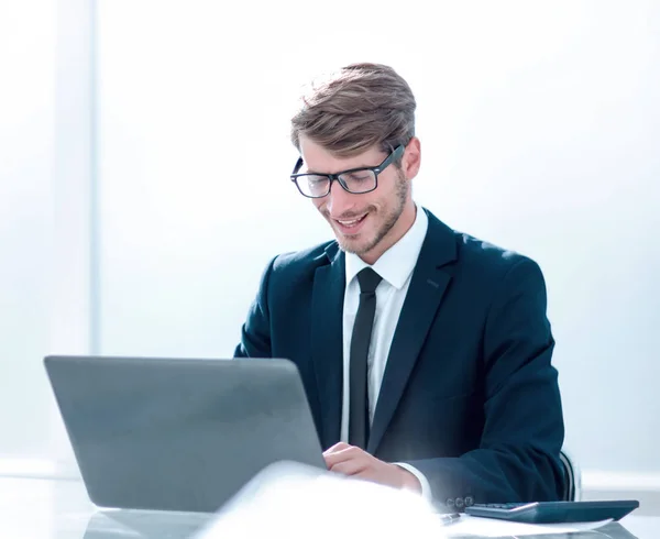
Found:
[[391, 63], [418, 200], [544, 268], [569, 447], [660, 472], [658, 4], [294, 4], [100, 2], [102, 351], [230, 354], [266, 261], [329, 233], [287, 179], [289, 99]]

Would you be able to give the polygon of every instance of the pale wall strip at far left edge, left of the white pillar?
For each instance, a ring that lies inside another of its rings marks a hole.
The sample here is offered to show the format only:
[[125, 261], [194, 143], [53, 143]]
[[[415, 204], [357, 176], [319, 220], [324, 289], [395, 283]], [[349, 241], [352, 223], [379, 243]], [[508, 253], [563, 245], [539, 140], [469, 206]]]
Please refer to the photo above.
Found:
[[50, 449], [40, 361], [51, 316], [54, 43], [54, 2], [0, 4], [1, 457]]

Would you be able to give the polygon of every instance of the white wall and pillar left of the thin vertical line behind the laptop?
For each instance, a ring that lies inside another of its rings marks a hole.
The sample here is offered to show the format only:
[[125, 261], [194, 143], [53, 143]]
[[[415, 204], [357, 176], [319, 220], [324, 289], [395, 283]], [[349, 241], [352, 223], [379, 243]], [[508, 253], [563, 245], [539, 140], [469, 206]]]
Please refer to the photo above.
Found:
[[87, 3], [0, 3], [0, 474], [75, 472], [42, 360], [89, 352]]

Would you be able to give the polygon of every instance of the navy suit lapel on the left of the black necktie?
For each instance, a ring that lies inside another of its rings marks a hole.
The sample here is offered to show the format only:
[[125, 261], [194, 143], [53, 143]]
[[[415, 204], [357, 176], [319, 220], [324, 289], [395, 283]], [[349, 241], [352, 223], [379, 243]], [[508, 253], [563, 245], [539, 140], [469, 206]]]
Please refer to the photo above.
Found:
[[323, 449], [340, 437], [343, 394], [342, 312], [344, 255], [336, 243], [326, 250], [330, 264], [317, 268], [311, 295], [311, 356], [321, 408]]

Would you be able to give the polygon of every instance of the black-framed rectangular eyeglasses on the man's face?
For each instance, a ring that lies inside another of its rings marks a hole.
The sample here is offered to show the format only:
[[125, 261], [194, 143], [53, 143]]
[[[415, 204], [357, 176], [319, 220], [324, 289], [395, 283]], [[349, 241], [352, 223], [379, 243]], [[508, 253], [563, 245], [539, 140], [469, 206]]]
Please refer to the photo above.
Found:
[[339, 182], [344, 190], [362, 195], [378, 187], [378, 174], [397, 161], [404, 154], [404, 150], [405, 146], [397, 146], [378, 166], [351, 168], [338, 174], [297, 174], [302, 166], [302, 157], [299, 157], [290, 176], [292, 182], [296, 184], [300, 194], [308, 198], [327, 197], [334, 180]]

